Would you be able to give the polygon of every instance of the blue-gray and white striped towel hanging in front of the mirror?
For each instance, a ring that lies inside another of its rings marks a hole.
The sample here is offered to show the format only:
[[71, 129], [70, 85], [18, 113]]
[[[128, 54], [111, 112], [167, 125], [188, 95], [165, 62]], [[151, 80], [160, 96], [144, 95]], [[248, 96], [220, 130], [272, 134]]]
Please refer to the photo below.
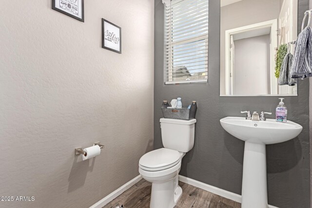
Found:
[[293, 54], [292, 78], [312, 76], [312, 32], [306, 27], [298, 35]]

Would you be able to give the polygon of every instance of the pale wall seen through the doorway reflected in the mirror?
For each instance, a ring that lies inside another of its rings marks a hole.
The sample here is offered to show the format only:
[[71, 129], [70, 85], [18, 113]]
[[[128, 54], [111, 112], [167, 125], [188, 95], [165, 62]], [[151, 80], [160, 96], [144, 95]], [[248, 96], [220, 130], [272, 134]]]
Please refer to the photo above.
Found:
[[270, 35], [235, 40], [234, 46], [233, 94], [268, 94]]

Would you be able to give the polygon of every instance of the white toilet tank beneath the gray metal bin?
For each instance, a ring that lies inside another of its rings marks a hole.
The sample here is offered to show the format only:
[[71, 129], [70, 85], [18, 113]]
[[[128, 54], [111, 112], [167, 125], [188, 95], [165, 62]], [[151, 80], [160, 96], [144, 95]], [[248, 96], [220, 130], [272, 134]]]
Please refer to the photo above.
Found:
[[161, 139], [164, 148], [188, 152], [194, 146], [196, 119], [160, 118]]

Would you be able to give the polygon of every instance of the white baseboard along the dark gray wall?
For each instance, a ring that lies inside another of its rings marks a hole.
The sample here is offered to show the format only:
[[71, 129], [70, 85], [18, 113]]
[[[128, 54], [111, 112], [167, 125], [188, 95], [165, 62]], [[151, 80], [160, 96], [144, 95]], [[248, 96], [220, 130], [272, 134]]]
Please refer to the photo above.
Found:
[[[207, 190], [211, 193], [214, 193], [216, 195], [222, 196], [222, 197], [227, 198], [227, 199], [231, 199], [235, 202], [242, 203], [242, 196], [239, 194], [236, 194], [236, 193], [233, 193], [233, 192], [230, 192], [227, 190], [219, 189], [217, 187], [210, 186], [208, 184], [204, 184], [200, 181], [196, 181], [194, 179], [185, 177], [183, 175], [179, 175], [179, 181], [186, 183], [186, 184], [189, 184], [189, 185], [192, 185], [192, 186], [197, 187], [199, 189]], [[277, 207], [269, 205], [269, 208], [277, 208]]]

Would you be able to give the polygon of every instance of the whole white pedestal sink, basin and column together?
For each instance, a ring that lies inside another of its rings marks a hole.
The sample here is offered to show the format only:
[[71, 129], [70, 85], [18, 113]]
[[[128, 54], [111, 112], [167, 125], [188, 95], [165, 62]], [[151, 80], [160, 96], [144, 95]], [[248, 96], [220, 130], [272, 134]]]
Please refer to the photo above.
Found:
[[292, 121], [276, 122], [246, 120], [245, 117], [225, 117], [223, 129], [245, 141], [242, 208], [267, 208], [267, 161], [265, 145], [288, 141], [296, 137], [302, 126]]

